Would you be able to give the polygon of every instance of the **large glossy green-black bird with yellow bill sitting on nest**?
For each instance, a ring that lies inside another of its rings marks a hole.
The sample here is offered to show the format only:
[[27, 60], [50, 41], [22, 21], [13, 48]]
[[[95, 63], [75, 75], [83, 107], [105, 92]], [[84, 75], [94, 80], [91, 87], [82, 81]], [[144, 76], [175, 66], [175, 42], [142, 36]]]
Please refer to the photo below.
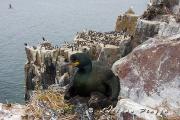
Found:
[[90, 96], [92, 92], [100, 92], [111, 101], [117, 101], [120, 83], [119, 79], [110, 69], [97, 63], [91, 62], [89, 56], [85, 53], [76, 53], [70, 56], [72, 64], [78, 67], [78, 71], [74, 76], [72, 86], [65, 99], [70, 99], [76, 95]]

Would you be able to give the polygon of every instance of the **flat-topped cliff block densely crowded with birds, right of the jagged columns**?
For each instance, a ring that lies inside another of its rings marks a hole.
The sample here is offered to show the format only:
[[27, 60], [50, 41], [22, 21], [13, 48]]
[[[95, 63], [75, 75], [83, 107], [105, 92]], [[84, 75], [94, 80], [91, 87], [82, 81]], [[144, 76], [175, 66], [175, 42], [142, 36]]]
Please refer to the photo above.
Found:
[[102, 65], [111, 67], [116, 60], [129, 52], [131, 38], [125, 34], [122, 32], [81, 32], [75, 37], [75, 41], [85, 41], [86, 44], [81, 45], [89, 49], [90, 57]]

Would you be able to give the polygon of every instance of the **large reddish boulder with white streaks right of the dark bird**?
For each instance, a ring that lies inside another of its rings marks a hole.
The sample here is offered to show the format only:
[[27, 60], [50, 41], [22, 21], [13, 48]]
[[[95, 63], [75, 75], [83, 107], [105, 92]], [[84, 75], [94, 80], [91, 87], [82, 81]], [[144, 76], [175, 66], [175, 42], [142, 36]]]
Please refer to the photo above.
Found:
[[179, 114], [179, 53], [180, 35], [152, 38], [115, 62], [112, 70], [120, 79], [121, 97], [153, 109], [168, 110], [168, 115]]

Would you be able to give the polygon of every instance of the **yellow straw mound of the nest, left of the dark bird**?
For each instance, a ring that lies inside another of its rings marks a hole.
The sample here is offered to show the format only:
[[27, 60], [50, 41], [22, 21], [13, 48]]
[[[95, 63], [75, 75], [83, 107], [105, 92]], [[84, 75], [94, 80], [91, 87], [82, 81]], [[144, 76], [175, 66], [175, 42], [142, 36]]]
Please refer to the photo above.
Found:
[[64, 95], [52, 90], [36, 91], [26, 109], [28, 119], [74, 120], [74, 105], [64, 102]]

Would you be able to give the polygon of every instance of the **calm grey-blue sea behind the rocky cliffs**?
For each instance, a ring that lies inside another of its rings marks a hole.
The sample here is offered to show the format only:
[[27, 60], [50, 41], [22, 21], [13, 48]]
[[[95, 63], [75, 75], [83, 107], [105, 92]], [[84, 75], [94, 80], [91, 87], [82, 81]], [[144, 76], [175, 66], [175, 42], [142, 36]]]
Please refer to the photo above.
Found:
[[35, 45], [44, 36], [60, 44], [83, 29], [112, 31], [120, 13], [133, 6], [142, 14], [146, 5], [147, 0], [0, 0], [0, 102], [24, 101], [24, 42]]

